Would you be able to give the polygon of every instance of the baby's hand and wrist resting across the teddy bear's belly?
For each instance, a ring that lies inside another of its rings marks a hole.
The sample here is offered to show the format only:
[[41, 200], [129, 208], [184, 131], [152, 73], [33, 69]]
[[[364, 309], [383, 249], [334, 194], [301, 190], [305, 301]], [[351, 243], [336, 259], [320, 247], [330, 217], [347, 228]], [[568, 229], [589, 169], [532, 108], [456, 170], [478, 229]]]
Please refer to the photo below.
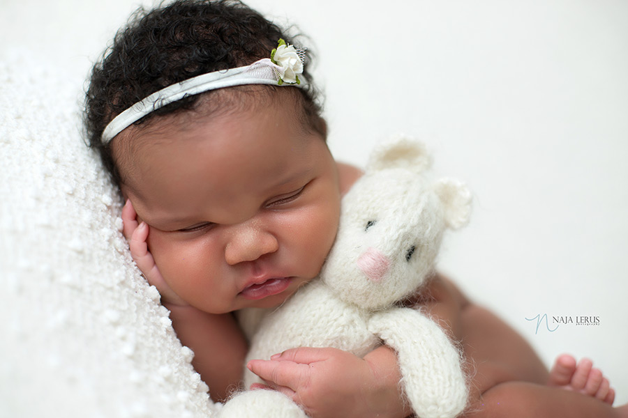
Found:
[[301, 405], [308, 417], [408, 415], [396, 382], [388, 387], [377, 367], [343, 350], [292, 348], [270, 360], [251, 360], [247, 367], [267, 383], [251, 389], [276, 389]]

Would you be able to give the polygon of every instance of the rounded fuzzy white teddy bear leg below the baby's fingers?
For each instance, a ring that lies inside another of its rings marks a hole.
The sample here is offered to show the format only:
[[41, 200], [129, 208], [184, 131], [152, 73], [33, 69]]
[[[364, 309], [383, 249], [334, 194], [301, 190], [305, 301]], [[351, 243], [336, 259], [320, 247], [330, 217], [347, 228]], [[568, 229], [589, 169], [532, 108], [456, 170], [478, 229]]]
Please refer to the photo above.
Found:
[[292, 399], [270, 389], [241, 392], [218, 410], [218, 418], [307, 418]]

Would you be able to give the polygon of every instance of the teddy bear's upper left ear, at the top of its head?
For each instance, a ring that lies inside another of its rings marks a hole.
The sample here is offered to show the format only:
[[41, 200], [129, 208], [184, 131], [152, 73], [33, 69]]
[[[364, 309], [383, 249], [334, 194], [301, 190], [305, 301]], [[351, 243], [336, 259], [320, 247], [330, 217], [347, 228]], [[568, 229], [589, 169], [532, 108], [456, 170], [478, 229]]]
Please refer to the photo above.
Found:
[[404, 168], [421, 173], [430, 165], [431, 159], [422, 142], [398, 135], [375, 146], [366, 171]]

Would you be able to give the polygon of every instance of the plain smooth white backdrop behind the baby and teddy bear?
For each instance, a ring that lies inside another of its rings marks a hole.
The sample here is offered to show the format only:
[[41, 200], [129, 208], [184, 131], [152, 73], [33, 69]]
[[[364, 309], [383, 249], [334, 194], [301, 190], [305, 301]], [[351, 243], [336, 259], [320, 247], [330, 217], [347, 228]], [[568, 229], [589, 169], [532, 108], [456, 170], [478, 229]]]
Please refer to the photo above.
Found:
[[[628, 3], [249, 3], [312, 38], [338, 159], [364, 164], [374, 141], [406, 132], [438, 173], [467, 180], [472, 222], [440, 269], [548, 364], [591, 357], [627, 402]], [[137, 4], [0, 0], [1, 48], [84, 77]], [[543, 314], [547, 326], [526, 320]]]

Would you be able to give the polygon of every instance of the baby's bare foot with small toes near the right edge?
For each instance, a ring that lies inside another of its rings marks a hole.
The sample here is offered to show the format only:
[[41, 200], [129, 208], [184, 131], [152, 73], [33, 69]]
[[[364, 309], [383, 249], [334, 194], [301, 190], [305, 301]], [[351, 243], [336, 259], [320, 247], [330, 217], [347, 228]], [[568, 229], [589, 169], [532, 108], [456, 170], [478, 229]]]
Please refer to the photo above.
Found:
[[590, 359], [581, 359], [576, 364], [571, 355], [560, 355], [550, 371], [548, 385], [593, 396], [608, 405], [615, 401], [615, 390], [611, 389], [601, 371], [593, 368]]

